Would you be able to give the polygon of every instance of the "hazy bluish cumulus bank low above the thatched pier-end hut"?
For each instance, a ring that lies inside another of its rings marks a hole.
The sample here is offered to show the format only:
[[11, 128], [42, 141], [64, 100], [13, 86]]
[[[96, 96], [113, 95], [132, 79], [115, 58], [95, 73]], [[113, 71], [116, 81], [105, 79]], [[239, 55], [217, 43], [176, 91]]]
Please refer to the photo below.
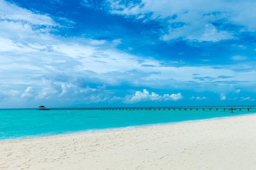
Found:
[[[65, 103], [67, 105], [74, 103], [92, 104], [105, 102], [108, 100], [108, 91], [105, 86], [76, 86], [79, 82], [56, 82], [49, 79], [42, 79], [43, 86], [36, 91], [28, 87], [21, 97], [31, 99], [33, 102], [54, 101], [54, 103]], [[33, 93], [32, 93], [33, 92]], [[52, 106], [54, 103], [50, 103]]]

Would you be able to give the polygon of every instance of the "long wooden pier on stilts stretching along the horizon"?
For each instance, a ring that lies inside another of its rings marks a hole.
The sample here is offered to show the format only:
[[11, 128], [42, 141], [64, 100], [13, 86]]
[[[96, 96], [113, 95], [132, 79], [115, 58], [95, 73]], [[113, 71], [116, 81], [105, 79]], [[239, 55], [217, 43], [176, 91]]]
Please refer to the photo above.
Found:
[[[198, 110], [203, 110], [203, 111], [222, 110], [222, 111], [226, 111], [226, 110], [230, 110], [230, 108], [50, 108], [50, 110], [119, 110], [119, 111], [120, 110], [130, 110], [130, 111], [131, 110], [148, 110], [148, 111], [150, 111], [150, 110], [153, 110], [153, 111], [155, 111], [155, 110], [158, 110], [158, 111], [160, 111], [160, 110], [162, 110], [162, 111], [164, 111], [164, 110], [169, 110], [169, 111], [170, 110], [171, 111], [175, 111], [175, 110], [184, 110], [184, 111], [186, 111], [186, 110], [190, 110], [190, 111], [192, 111], [192, 110], [196, 110], [196, 111], [198, 111]], [[251, 107], [250, 108], [236, 108], [234, 110], [239, 110], [239, 111], [255, 110], [256, 111], [256, 108], [251, 108]]]

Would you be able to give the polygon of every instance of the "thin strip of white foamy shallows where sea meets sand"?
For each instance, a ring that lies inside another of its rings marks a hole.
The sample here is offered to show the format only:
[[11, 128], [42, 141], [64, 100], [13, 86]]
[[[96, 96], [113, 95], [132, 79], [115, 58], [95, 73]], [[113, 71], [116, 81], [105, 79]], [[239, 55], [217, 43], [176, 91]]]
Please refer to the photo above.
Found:
[[175, 122], [167, 122], [167, 123], [157, 123], [157, 124], [134, 125], [134, 126], [125, 126], [125, 127], [116, 127], [116, 128], [88, 129], [88, 130], [71, 131], [71, 132], [64, 132], [64, 133], [52, 134], [52, 135], [51, 134], [30, 135], [30, 136], [15, 137], [11, 139], [1, 139], [0, 142], [1, 141], [20, 141], [20, 140], [27, 140], [27, 139], [28, 140], [40, 139], [45, 137], [80, 135], [80, 134], [109, 132], [109, 131], [111, 132], [111, 131], [117, 131], [117, 130], [129, 130], [129, 129], [147, 128], [147, 127], [155, 127], [155, 126], [166, 126], [166, 125], [173, 125], [173, 124], [186, 124], [186, 123], [193, 123], [193, 122], [200, 122], [200, 121], [212, 121], [212, 120], [229, 119], [234, 117], [244, 117], [244, 116], [251, 116], [251, 115], [256, 115], [256, 113], [248, 113], [248, 114], [224, 116], [224, 117], [212, 117], [207, 119], [184, 120], [184, 121], [175, 121]]

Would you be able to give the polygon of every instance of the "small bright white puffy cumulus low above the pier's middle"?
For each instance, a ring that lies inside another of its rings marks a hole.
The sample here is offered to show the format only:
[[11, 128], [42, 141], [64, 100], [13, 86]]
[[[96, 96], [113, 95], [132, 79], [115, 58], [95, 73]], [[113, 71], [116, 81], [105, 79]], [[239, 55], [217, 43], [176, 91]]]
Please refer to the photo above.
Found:
[[181, 93], [177, 94], [164, 94], [163, 96], [158, 95], [154, 92], [150, 93], [144, 89], [143, 92], [136, 91], [134, 95], [127, 95], [124, 102], [125, 103], [137, 103], [137, 102], [143, 102], [143, 101], [167, 101], [167, 100], [180, 100], [182, 99]]

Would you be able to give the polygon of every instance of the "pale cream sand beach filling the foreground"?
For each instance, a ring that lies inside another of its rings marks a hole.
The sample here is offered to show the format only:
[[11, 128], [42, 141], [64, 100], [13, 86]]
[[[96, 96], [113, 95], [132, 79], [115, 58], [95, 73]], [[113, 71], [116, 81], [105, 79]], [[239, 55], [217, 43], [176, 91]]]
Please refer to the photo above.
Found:
[[256, 115], [0, 141], [0, 170], [255, 170]]

